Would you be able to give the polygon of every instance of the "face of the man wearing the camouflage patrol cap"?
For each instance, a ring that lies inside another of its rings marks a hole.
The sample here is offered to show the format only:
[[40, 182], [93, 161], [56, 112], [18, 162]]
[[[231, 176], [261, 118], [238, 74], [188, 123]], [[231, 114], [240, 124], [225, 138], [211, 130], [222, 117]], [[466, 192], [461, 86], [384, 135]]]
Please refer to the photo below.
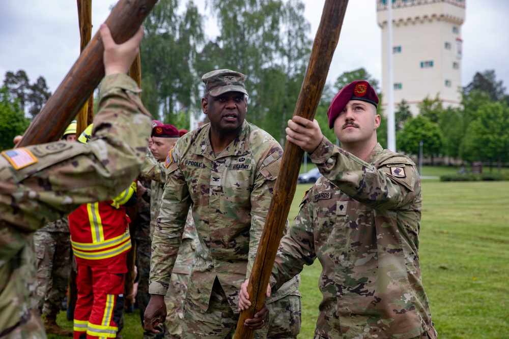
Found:
[[247, 99], [241, 92], [227, 92], [217, 97], [208, 95], [202, 99], [202, 109], [209, 117], [212, 129], [231, 134], [242, 127], [247, 112]]

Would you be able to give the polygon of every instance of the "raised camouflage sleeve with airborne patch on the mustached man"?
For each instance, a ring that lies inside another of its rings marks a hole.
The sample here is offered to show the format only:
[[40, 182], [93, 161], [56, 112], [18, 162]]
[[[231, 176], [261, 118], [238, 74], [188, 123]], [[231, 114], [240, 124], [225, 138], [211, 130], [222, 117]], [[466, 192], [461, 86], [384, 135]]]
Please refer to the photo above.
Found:
[[387, 165], [377, 168], [336, 147], [325, 137], [310, 159], [341, 191], [372, 208], [409, 208], [420, 194], [419, 175], [411, 161], [403, 166], [404, 176], [397, 177]]

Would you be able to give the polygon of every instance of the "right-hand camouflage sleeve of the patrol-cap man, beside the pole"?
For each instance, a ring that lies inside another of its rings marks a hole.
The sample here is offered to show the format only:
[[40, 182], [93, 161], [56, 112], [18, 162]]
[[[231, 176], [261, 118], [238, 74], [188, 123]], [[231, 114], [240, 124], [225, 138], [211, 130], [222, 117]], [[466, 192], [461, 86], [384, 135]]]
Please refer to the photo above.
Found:
[[247, 258], [246, 278], [249, 278], [258, 251], [265, 220], [269, 211], [270, 200], [276, 183], [277, 172], [281, 164], [282, 149], [274, 144], [263, 157], [260, 170], [254, 179], [254, 188], [251, 192], [251, 228], [249, 230], [249, 254]]

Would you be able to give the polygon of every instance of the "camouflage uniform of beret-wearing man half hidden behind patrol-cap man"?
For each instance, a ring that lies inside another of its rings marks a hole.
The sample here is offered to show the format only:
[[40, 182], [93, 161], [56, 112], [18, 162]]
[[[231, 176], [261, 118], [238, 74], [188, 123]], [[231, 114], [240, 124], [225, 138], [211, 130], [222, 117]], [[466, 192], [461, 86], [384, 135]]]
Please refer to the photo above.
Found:
[[[156, 225], [157, 217], [159, 216], [159, 205], [164, 191], [164, 183], [166, 181], [166, 168], [162, 163], [158, 162], [152, 152], [147, 152], [145, 163], [142, 166], [142, 174], [151, 179], [150, 185], [150, 234], [152, 234]], [[184, 234], [182, 236], [182, 244], [180, 245], [179, 254], [175, 261], [175, 266], [172, 272], [172, 279], [169, 284], [168, 291], [164, 296], [166, 303], [166, 321], [164, 326], [158, 327], [163, 333], [164, 337], [169, 339], [180, 338], [182, 333], [182, 319], [183, 319], [183, 303], [184, 296], [187, 290], [187, 282], [189, 281], [189, 273], [191, 272], [191, 265], [194, 259], [194, 251], [198, 235], [194, 227], [191, 211], [189, 210]], [[149, 275], [146, 276], [147, 284]], [[147, 297], [149, 296], [147, 291]], [[147, 306], [144, 305], [144, 308]], [[142, 320], [143, 323], [143, 320]], [[154, 337], [152, 332], [144, 332], [144, 337]]]

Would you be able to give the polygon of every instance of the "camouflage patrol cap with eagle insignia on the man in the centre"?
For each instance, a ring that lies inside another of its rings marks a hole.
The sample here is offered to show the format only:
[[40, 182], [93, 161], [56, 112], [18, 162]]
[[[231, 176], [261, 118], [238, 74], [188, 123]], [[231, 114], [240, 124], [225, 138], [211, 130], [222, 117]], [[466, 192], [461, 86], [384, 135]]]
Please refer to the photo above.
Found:
[[205, 73], [202, 76], [205, 83], [205, 94], [210, 94], [212, 97], [217, 97], [227, 92], [241, 92], [246, 96], [246, 76], [242, 73], [232, 70], [215, 70]]

